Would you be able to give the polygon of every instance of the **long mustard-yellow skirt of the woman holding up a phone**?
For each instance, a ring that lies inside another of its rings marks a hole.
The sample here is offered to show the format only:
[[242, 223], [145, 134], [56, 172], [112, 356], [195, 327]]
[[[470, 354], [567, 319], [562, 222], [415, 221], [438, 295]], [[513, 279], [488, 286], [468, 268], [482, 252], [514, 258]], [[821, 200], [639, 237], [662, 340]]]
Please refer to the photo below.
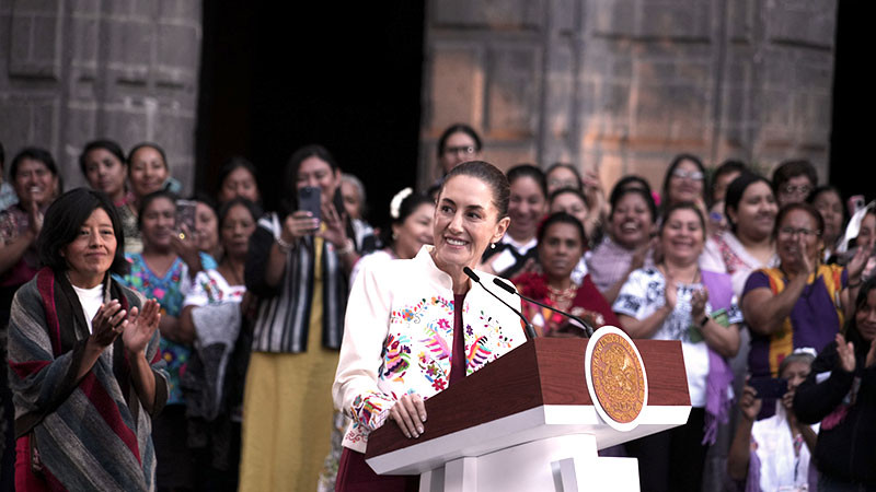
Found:
[[253, 352], [243, 397], [240, 491], [316, 490], [331, 447], [337, 354], [319, 339], [304, 353]]

